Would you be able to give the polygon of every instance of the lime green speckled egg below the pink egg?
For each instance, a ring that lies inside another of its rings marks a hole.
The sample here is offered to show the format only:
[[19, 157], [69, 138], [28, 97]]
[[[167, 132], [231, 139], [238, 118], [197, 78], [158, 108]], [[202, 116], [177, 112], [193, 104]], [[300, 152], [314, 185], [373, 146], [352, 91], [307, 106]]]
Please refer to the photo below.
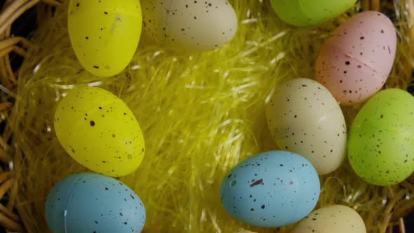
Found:
[[400, 89], [375, 94], [349, 130], [348, 158], [373, 185], [394, 185], [414, 171], [414, 98]]

